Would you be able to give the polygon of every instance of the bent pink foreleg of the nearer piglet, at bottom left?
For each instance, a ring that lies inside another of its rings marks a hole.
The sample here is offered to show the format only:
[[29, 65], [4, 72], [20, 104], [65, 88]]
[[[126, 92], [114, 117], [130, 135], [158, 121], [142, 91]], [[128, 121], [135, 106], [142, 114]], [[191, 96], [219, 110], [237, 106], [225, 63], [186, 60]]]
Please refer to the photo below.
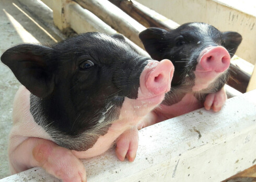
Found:
[[40, 166], [53, 176], [68, 181], [86, 181], [85, 167], [75, 155], [50, 140], [28, 138], [14, 151], [11, 160], [17, 171]]

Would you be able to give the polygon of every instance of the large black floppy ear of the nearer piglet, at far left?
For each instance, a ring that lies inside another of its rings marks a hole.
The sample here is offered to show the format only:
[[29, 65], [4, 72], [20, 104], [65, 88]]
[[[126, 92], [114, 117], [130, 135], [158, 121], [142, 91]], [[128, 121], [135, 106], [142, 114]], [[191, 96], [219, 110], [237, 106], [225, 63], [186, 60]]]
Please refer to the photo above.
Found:
[[54, 88], [52, 50], [42, 45], [21, 44], [6, 50], [1, 60], [32, 94], [44, 98]]

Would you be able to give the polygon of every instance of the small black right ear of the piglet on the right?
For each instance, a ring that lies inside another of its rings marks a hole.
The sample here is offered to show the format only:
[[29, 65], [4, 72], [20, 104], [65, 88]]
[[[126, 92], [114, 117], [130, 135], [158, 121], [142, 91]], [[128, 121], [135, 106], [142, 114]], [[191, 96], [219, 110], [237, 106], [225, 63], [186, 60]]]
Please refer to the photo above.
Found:
[[234, 56], [238, 46], [242, 41], [242, 36], [237, 32], [223, 32], [224, 47], [228, 50], [229, 54]]

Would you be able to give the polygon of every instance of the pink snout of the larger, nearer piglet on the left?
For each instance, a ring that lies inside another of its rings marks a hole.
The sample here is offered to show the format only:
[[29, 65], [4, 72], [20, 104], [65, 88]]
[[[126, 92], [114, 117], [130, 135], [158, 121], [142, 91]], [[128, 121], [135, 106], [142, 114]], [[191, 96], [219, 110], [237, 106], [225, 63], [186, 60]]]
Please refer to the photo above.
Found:
[[155, 95], [169, 92], [174, 71], [172, 62], [168, 59], [160, 62], [152, 61], [147, 64], [147, 67], [152, 69], [148, 72], [145, 82], [149, 92]]

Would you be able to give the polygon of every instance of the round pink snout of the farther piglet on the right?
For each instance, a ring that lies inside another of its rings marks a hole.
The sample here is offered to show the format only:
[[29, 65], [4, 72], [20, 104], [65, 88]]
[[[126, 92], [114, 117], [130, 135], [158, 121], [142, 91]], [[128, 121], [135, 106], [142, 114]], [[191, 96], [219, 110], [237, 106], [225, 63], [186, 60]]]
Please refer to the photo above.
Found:
[[207, 47], [201, 52], [202, 55], [199, 61], [199, 67], [196, 71], [215, 71], [224, 72], [228, 69], [230, 64], [230, 56], [222, 46]]

